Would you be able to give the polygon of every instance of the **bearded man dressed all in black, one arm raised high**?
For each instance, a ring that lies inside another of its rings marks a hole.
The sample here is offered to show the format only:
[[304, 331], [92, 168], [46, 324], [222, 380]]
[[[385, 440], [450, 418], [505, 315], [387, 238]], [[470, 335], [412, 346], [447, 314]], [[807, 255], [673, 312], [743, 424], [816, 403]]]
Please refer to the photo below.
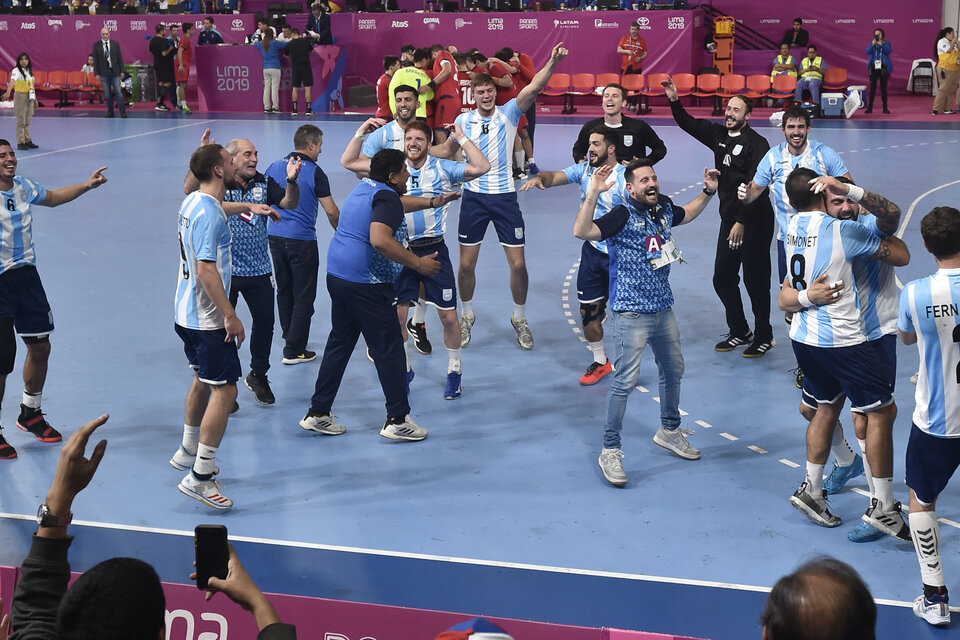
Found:
[[[720, 232], [713, 263], [713, 289], [723, 304], [728, 333], [714, 349], [732, 351], [747, 345], [744, 358], [762, 358], [775, 344], [770, 325], [773, 207], [768, 198], [743, 204], [737, 198], [737, 188], [756, 174], [757, 166], [770, 150], [770, 143], [748, 123], [753, 111], [750, 98], [731, 98], [721, 125], [688, 114], [680, 104], [672, 78], [667, 79], [664, 87], [673, 119], [681, 129], [713, 151], [715, 166], [720, 167]], [[743, 313], [738, 275], [741, 268], [753, 309], [755, 331], [750, 331]]]

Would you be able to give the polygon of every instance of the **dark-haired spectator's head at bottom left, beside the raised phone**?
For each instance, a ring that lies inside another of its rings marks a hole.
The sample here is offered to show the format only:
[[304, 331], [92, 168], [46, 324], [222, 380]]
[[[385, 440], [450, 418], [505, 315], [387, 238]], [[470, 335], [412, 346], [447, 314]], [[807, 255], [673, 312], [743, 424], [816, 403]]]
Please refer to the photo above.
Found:
[[[208, 145], [213, 146], [213, 145]], [[157, 572], [135, 558], [111, 558], [74, 583], [60, 601], [63, 640], [156, 640], [166, 625]]]

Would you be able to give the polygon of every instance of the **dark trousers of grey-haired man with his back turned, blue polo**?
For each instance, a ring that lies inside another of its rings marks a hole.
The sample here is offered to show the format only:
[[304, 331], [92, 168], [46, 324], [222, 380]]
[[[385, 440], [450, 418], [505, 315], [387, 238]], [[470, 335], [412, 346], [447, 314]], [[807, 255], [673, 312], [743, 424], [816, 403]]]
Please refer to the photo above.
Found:
[[310, 318], [317, 299], [320, 251], [316, 240], [270, 236], [273, 275], [277, 280], [277, 315], [283, 332], [283, 356], [294, 358], [307, 348]]

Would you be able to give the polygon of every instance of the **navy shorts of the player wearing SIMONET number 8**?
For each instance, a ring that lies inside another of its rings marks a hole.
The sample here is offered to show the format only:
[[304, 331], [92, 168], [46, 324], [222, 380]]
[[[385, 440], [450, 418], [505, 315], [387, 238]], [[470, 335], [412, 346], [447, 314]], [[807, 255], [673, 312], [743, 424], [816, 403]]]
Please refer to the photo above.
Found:
[[893, 402], [877, 349], [868, 342], [834, 348], [791, 342], [803, 369], [803, 386], [818, 403], [833, 404], [846, 395], [851, 407], [869, 412]]

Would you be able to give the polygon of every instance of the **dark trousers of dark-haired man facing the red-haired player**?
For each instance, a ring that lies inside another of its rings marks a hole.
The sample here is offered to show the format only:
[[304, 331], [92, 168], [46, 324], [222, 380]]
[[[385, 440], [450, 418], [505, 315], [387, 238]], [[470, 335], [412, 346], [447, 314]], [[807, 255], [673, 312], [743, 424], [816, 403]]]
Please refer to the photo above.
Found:
[[319, 413], [330, 412], [357, 339], [363, 334], [386, 396], [387, 417], [407, 415], [407, 358], [393, 285], [360, 284], [327, 274], [327, 291], [331, 303], [330, 336], [323, 349], [310, 407]]

